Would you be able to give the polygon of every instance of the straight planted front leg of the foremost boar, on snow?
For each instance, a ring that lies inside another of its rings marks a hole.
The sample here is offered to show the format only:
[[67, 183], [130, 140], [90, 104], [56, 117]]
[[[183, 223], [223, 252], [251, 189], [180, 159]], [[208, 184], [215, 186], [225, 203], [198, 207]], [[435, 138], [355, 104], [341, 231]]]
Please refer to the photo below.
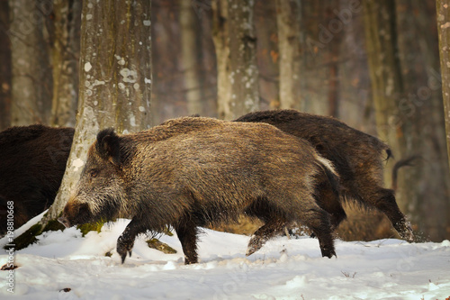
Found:
[[181, 242], [184, 252], [184, 265], [198, 262], [197, 257], [197, 226], [188, 218], [175, 225], [175, 232]]

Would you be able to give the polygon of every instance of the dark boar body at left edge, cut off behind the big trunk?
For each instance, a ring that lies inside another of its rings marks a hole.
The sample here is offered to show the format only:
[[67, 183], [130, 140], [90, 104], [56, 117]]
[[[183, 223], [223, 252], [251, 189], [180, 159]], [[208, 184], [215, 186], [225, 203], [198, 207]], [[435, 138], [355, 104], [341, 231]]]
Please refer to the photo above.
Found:
[[0, 132], [0, 235], [6, 230], [7, 202], [14, 202], [14, 228], [53, 203], [73, 136], [73, 128], [39, 124]]

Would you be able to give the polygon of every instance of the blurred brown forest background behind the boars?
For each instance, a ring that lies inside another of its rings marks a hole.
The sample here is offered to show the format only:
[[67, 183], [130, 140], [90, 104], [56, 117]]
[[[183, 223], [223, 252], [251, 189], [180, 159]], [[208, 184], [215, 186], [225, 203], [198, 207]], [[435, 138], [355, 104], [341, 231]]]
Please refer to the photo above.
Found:
[[[81, 1], [22, 3], [0, 0], [0, 129], [74, 126]], [[153, 124], [286, 107], [335, 116], [392, 146], [386, 186], [396, 161], [420, 156], [399, 170], [398, 203], [424, 239], [450, 239], [435, 0], [152, 0], [151, 20]], [[354, 212], [342, 238], [394, 234]]]

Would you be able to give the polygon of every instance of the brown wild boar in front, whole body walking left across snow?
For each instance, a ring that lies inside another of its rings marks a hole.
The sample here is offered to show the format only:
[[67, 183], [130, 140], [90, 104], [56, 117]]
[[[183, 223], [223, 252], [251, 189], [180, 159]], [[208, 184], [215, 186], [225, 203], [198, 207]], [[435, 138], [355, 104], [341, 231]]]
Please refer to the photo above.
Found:
[[231, 123], [184, 117], [150, 130], [98, 133], [79, 182], [59, 222], [66, 227], [127, 217], [117, 241], [122, 262], [139, 233], [175, 229], [184, 263], [197, 262], [198, 227], [233, 222], [239, 214], [265, 224], [247, 255], [284, 223], [311, 228], [322, 256], [336, 255], [329, 213], [316, 200], [328, 181], [338, 195], [338, 177], [311, 145], [264, 123]]

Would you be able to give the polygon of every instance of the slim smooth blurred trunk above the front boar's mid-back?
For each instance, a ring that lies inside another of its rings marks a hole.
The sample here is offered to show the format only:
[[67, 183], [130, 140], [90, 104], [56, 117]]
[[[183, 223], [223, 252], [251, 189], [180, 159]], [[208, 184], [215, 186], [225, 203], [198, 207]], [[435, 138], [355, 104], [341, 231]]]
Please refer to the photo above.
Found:
[[181, 62], [184, 73], [184, 89], [187, 101], [187, 114], [204, 115], [202, 107], [202, 80], [200, 69], [202, 67], [201, 30], [196, 22], [197, 15], [189, 1], [179, 0], [180, 5], [180, 35], [181, 35]]

